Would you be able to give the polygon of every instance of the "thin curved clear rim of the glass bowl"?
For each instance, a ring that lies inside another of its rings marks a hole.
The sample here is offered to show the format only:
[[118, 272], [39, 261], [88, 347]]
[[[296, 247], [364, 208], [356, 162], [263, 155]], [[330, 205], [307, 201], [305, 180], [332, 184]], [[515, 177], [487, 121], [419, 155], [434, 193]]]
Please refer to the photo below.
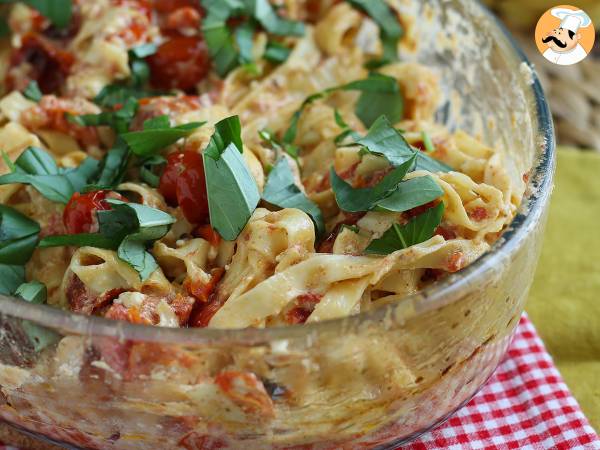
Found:
[[[494, 23], [499, 36], [512, 49], [516, 60], [532, 68], [523, 50], [515, 42], [504, 24], [485, 6], [478, 3], [486, 19]], [[530, 172], [526, 195], [517, 212], [517, 216], [486, 254], [457, 274], [405, 297], [404, 301], [427, 302], [428, 307], [442, 304], [446, 296], [458, 291], [465, 285], [471, 285], [481, 278], [490, 266], [506, 255], [516, 252], [525, 240], [528, 232], [535, 227], [541, 217], [553, 187], [555, 166], [555, 138], [552, 115], [542, 86], [532, 68], [533, 82], [530, 85], [537, 112], [536, 144], [540, 146]], [[373, 311], [349, 317], [327, 320], [312, 324], [292, 325], [272, 328], [213, 329], [213, 328], [164, 328], [148, 325], [136, 325], [97, 316], [86, 316], [61, 310], [47, 305], [35, 305], [14, 297], [0, 295], [0, 314], [32, 320], [66, 334], [90, 336], [112, 336], [136, 341], [175, 343], [185, 345], [205, 345], [209, 343], [259, 344], [273, 340], [308, 338], [326, 332], [342, 333], [353, 329], [365, 321], [381, 320], [397, 307], [387, 305]]]

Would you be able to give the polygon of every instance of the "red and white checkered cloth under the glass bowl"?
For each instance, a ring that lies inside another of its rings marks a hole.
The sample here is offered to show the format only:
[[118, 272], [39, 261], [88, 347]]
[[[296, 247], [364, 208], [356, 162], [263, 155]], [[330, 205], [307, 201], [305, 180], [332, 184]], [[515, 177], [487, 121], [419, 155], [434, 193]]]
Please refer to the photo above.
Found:
[[600, 438], [523, 316], [486, 386], [442, 426], [399, 450], [437, 449], [600, 450]]

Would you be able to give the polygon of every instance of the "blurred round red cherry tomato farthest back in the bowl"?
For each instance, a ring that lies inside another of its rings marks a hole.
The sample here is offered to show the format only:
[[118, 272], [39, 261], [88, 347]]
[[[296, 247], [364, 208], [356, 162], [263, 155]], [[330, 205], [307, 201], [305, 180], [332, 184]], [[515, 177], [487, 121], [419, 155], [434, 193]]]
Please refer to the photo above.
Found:
[[171, 37], [147, 61], [150, 82], [158, 89], [190, 91], [210, 69], [206, 43], [196, 36]]

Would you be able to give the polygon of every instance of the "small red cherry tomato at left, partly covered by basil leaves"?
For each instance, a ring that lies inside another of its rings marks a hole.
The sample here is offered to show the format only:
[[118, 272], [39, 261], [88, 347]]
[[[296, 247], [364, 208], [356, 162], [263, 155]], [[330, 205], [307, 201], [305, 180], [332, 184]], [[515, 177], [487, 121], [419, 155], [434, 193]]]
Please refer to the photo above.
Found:
[[69, 234], [89, 233], [96, 222], [96, 211], [111, 208], [106, 201], [109, 191], [94, 191], [87, 194], [75, 192], [63, 212], [63, 222]]

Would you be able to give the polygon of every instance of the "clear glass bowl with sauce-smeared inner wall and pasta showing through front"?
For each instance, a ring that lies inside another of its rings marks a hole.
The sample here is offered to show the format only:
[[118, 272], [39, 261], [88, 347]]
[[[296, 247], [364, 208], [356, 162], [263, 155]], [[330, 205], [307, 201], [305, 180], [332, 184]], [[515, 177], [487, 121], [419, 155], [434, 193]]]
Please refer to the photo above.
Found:
[[[552, 122], [529, 63], [479, 3], [402, 8], [402, 58], [441, 76], [438, 120], [499, 148], [525, 192], [492, 250], [398, 303], [287, 328], [144, 327], [2, 298], [0, 418], [74, 448], [395, 448], [480, 389], [534, 274]], [[36, 352], [32, 326], [56, 343]]]

